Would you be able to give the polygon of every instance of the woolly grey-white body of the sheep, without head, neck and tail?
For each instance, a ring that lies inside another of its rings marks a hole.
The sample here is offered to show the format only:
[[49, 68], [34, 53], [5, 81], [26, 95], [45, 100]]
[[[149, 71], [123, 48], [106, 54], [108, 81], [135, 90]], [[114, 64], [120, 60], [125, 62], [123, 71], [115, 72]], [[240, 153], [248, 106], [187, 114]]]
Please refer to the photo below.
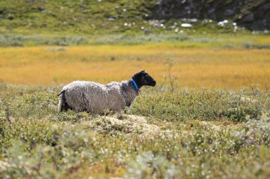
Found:
[[77, 111], [102, 113], [104, 110], [119, 111], [124, 107], [120, 87], [104, 86], [92, 81], [74, 81], [63, 88], [68, 105]]

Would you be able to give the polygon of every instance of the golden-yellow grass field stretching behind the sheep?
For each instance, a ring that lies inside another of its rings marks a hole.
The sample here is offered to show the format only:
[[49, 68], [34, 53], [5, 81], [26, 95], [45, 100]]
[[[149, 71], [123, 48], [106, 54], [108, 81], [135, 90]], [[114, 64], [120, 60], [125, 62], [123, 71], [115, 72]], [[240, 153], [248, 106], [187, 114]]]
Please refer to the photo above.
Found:
[[121, 81], [146, 69], [163, 82], [166, 59], [175, 59], [180, 87], [239, 89], [270, 87], [270, 50], [183, 48], [177, 44], [0, 48], [0, 81], [64, 84], [74, 80]]

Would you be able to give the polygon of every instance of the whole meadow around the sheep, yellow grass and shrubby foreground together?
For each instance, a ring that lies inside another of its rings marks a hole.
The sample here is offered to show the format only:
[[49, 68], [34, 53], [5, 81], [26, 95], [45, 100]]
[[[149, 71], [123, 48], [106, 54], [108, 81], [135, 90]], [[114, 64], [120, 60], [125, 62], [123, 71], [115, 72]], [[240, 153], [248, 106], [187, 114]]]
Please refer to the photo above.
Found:
[[[269, 38], [193, 40], [1, 47], [0, 178], [269, 178]], [[58, 112], [63, 84], [141, 69], [130, 110]]]

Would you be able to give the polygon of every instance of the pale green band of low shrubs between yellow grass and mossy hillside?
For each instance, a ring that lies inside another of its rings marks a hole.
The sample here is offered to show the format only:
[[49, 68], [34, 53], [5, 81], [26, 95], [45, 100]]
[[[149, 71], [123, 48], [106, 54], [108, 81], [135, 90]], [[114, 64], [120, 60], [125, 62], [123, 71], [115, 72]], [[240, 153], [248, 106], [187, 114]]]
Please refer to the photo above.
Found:
[[270, 49], [268, 35], [220, 34], [114, 34], [114, 35], [15, 35], [0, 34], [0, 47], [75, 46], [75, 45], [146, 45], [170, 43], [179, 47]]

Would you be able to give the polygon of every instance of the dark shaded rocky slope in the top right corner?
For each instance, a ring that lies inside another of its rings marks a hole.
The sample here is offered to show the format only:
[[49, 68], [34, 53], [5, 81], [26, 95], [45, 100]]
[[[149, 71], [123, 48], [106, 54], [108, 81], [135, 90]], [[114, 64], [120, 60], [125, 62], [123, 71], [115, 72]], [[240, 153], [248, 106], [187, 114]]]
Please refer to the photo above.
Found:
[[252, 30], [269, 29], [270, 1], [266, 0], [158, 0], [149, 18], [231, 19]]

